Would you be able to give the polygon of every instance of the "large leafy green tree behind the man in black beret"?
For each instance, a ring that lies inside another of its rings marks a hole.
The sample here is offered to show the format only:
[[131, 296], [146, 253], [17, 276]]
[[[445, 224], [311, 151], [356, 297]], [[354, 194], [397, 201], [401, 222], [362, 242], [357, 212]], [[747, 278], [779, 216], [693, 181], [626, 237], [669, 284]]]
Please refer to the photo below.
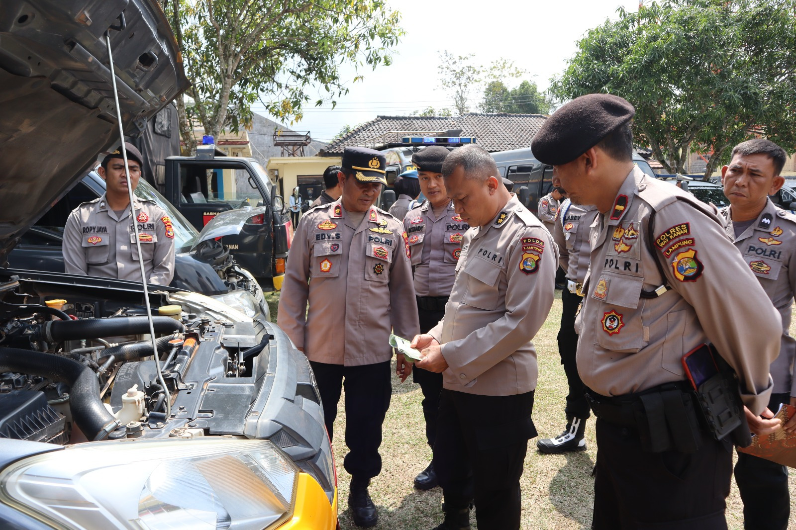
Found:
[[763, 134], [796, 146], [796, 0], [669, 0], [619, 9], [591, 29], [552, 91], [621, 95], [636, 107], [637, 142], [670, 173], [689, 148], [710, 154], [705, 177], [736, 143]]

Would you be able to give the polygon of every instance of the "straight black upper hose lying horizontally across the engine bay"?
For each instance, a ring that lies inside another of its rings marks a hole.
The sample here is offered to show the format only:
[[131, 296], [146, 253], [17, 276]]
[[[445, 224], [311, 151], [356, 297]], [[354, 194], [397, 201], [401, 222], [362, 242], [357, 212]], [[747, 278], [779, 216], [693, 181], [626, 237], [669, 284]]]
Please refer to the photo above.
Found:
[[[171, 317], [152, 317], [152, 325], [155, 333], [185, 332], [185, 325]], [[41, 325], [37, 338], [60, 342], [143, 333], [149, 333], [149, 321], [146, 317], [86, 318], [45, 322]]]

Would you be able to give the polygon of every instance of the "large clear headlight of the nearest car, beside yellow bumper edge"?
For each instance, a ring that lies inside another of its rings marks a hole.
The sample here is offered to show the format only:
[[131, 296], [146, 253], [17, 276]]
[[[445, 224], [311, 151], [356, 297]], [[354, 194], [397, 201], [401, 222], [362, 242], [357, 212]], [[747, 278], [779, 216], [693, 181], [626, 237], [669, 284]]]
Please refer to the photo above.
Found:
[[55, 528], [274, 528], [298, 468], [267, 440], [92, 442], [14, 462], [0, 501]]

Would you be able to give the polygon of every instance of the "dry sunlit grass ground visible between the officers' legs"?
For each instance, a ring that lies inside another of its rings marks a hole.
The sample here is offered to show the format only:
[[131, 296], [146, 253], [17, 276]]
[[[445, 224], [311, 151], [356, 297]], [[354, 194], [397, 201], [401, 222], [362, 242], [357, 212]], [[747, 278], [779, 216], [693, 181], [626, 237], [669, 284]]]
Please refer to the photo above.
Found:
[[[278, 293], [266, 294], [271, 304], [272, 319], [276, 320]], [[273, 302], [273, 303], [271, 303]], [[534, 339], [539, 360], [539, 384], [534, 396], [533, 423], [540, 437], [548, 438], [564, 428], [564, 396], [567, 380], [560, 364], [556, 334], [561, 318], [561, 292], [556, 291], [556, 302], [547, 322]], [[796, 322], [796, 319], [794, 319]], [[791, 329], [791, 333], [794, 329]], [[443, 520], [439, 503], [439, 488], [420, 492], [412, 488], [412, 480], [425, 468], [431, 458], [426, 444], [423, 395], [419, 385], [410, 377], [400, 384], [392, 380], [392, 403], [384, 421], [384, 441], [380, 453], [383, 463], [381, 474], [370, 486], [373, 502], [379, 509], [376, 528], [427, 530]], [[341, 398], [341, 403], [343, 402]], [[564, 455], [537, 453], [536, 438], [530, 440], [522, 485], [522, 528], [524, 530], [580, 530], [591, 526], [591, 503], [594, 497], [594, 467], [597, 446], [594, 441], [594, 423], [589, 421], [586, 431], [587, 450]], [[345, 430], [345, 412], [340, 408], [334, 426], [339, 435], [334, 439], [334, 454], [338, 467], [338, 498], [341, 528], [357, 528], [347, 511], [350, 476], [342, 466], [347, 452], [342, 433]], [[790, 475], [790, 496], [796, 498], [796, 475]], [[473, 528], [475, 515], [470, 516]], [[731, 530], [743, 529], [743, 505], [735, 481], [728, 498], [727, 520]], [[790, 514], [790, 528], [796, 528], [796, 509]]]

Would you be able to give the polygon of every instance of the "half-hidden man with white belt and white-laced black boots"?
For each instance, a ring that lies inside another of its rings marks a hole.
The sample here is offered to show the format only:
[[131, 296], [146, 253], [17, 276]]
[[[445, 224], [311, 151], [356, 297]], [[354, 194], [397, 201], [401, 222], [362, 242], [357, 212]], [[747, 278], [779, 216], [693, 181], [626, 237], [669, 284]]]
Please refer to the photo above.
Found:
[[561, 292], [561, 327], [557, 339], [569, 394], [567, 406], [564, 408], [567, 426], [556, 438], [537, 440], [537, 449], [542, 453], [556, 454], [586, 449], [583, 435], [590, 414], [583, 381], [580, 380], [576, 364], [578, 334], [575, 330], [575, 316], [583, 300], [583, 282], [586, 281], [591, 251], [589, 233], [597, 213], [594, 206], [573, 205], [572, 201], [565, 199], [556, 212], [556, 224], [552, 229], [553, 240], [560, 251], [560, 267], [567, 271], [567, 286]]

